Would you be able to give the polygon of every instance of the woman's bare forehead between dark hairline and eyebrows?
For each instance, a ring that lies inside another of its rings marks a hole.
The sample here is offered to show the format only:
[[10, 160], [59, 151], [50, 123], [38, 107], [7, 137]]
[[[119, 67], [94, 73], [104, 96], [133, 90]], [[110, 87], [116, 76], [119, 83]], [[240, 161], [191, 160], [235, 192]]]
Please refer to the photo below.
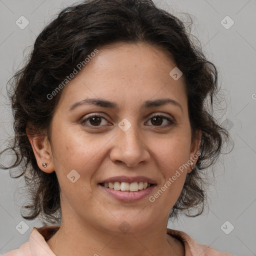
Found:
[[135, 102], [168, 96], [185, 106], [184, 78], [174, 80], [169, 75], [176, 64], [163, 48], [115, 43], [97, 49], [65, 86], [59, 105], [68, 107], [83, 98], [99, 97], [135, 106]]

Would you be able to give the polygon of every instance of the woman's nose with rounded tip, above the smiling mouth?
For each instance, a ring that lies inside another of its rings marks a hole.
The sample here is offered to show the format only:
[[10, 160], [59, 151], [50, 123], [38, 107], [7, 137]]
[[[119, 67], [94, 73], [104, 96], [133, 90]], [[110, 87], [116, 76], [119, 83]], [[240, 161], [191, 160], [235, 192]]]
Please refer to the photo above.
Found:
[[146, 139], [135, 124], [126, 131], [118, 127], [113, 139], [113, 148], [109, 157], [115, 164], [122, 163], [125, 166], [134, 167], [141, 162], [149, 161], [150, 153]]

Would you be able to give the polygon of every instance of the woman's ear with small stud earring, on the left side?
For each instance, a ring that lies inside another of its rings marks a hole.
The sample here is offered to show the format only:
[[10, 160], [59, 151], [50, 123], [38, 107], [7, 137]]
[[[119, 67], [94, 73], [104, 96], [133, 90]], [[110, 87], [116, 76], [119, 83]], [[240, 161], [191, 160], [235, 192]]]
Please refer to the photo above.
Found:
[[[26, 128], [26, 134], [32, 146], [38, 167], [44, 172], [53, 172], [54, 166], [48, 137], [42, 134], [33, 134], [29, 128]], [[47, 166], [43, 167], [42, 163], [46, 163]]]

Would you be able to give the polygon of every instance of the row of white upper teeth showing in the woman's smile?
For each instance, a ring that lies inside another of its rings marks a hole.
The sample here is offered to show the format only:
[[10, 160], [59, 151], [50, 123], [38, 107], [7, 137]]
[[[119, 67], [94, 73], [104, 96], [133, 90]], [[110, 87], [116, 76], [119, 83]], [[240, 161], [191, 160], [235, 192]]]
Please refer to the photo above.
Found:
[[136, 192], [138, 190], [145, 189], [150, 186], [150, 183], [147, 182], [106, 182], [104, 183], [104, 187], [109, 187], [115, 190], [121, 190], [121, 191], [131, 191]]

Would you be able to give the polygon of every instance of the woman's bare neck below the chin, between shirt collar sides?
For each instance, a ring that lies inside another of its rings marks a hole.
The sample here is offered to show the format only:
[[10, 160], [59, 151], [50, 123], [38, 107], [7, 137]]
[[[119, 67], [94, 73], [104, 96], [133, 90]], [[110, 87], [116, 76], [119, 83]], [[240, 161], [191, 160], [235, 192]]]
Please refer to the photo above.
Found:
[[61, 220], [59, 230], [47, 240], [56, 256], [122, 255], [122, 256], [183, 256], [184, 247], [166, 234], [166, 226], [152, 226], [139, 233], [112, 233], [91, 224], [82, 225]]

